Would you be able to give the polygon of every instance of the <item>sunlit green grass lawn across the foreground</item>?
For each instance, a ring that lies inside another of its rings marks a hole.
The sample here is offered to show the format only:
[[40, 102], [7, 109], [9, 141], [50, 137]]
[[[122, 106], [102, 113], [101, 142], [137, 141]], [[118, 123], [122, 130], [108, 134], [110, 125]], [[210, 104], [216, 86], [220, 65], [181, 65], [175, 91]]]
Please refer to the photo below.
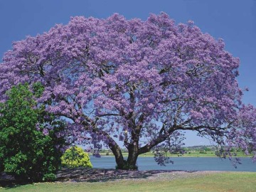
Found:
[[222, 172], [172, 181], [121, 180], [107, 182], [65, 182], [34, 183], [14, 188], [0, 188], [0, 191], [256, 191], [256, 173]]

